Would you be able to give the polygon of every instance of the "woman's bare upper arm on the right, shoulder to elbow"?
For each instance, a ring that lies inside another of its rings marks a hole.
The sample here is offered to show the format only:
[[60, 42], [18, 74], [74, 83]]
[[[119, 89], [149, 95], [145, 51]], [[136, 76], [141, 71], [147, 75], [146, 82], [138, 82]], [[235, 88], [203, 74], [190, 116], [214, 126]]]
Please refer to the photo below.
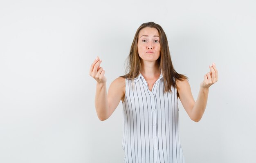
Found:
[[191, 88], [189, 85], [189, 81], [187, 79], [182, 80], [176, 80], [177, 84], [177, 91], [179, 93], [180, 101], [186, 110], [189, 117], [191, 117], [192, 109], [195, 105], [195, 100], [193, 98], [193, 95], [191, 93]]

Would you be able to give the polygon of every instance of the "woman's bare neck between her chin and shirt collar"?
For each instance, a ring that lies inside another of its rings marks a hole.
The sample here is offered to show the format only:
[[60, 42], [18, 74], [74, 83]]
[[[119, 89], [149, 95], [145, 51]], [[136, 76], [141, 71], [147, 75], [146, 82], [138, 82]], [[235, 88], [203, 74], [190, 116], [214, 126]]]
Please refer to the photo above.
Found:
[[147, 78], [155, 78], [156, 76], [159, 77], [161, 71], [159, 69], [158, 63], [155, 62], [148, 62], [141, 60], [141, 74]]

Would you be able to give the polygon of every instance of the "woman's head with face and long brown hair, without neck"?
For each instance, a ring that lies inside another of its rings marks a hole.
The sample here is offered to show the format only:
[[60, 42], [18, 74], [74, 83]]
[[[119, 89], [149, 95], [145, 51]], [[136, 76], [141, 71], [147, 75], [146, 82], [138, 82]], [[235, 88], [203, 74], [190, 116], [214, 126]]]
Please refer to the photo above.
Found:
[[[144, 38], [140, 38], [141, 36]], [[142, 41], [146, 39], [148, 39], [149, 42], [145, 44]], [[150, 50], [155, 52], [155, 56], [146, 54], [146, 52]], [[164, 77], [166, 86], [165, 91], [171, 91], [172, 85], [176, 87], [175, 80], [173, 78], [187, 78], [182, 74], [178, 74], [173, 68], [166, 34], [162, 27], [154, 22], [143, 23], [137, 29], [132, 41], [130, 54], [128, 56], [128, 73], [122, 77], [130, 79], [136, 78], [141, 72], [141, 59], [148, 61], [156, 60]]]

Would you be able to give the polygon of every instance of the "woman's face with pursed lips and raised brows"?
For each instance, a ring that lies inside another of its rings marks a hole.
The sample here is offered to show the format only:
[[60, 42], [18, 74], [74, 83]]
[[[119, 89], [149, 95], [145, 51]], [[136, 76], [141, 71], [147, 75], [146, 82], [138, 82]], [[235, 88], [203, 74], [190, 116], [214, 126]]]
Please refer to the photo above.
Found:
[[144, 61], [156, 61], [160, 56], [160, 38], [157, 29], [145, 27], [139, 31], [139, 57]]

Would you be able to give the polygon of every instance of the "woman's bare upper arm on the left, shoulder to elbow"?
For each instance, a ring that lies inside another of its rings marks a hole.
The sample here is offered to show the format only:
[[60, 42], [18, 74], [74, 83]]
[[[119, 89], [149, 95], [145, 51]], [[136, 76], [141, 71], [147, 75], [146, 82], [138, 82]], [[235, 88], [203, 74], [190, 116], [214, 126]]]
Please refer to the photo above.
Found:
[[125, 94], [125, 78], [119, 77], [116, 78], [111, 84], [108, 89], [108, 106], [110, 114], [115, 111], [120, 100], [123, 100]]

